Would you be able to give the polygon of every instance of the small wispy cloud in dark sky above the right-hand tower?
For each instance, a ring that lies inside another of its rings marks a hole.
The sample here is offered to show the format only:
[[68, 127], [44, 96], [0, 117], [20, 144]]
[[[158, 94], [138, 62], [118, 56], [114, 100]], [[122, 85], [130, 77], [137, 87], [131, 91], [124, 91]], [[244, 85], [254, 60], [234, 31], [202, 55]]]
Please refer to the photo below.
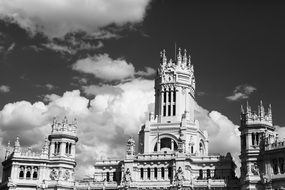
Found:
[[243, 84], [235, 87], [233, 94], [227, 96], [226, 99], [229, 101], [238, 101], [243, 99], [248, 99], [250, 94], [252, 94], [256, 88], [251, 85]]

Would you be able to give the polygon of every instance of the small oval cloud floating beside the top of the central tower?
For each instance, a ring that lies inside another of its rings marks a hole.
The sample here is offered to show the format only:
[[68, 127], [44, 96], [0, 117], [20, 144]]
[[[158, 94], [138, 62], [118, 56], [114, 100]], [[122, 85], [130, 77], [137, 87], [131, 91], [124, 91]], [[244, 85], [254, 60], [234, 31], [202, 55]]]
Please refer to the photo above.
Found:
[[74, 70], [93, 74], [96, 78], [105, 81], [123, 80], [138, 76], [151, 76], [155, 73], [154, 69], [146, 67], [146, 71], [135, 71], [133, 64], [126, 60], [112, 59], [108, 54], [99, 54], [93, 57], [80, 59], [73, 64]]

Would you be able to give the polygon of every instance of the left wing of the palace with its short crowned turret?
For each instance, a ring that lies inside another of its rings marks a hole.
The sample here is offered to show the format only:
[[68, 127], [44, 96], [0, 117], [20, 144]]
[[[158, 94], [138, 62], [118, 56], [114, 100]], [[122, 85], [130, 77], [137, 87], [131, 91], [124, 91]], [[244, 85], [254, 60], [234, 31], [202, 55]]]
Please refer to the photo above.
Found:
[[51, 134], [45, 139], [42, 151], [24, 150], [19, 137], [14, 147], [8, 144], [0, 189], [73, 189], [76, 121], [53, 121]]

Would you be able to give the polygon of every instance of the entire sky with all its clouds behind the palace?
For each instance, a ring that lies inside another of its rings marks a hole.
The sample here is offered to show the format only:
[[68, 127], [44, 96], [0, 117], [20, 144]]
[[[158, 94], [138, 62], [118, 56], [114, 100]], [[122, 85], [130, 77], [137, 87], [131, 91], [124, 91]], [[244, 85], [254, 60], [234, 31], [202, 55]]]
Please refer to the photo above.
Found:
[[[39, 150], [53, 117], [78, 119], [77, 177], [123, 158], [153, 110], [159, 52], [187, 49], [209, 152], [240, 153], [240, 105], [272, 104], [285, 137], [281, 1], [0, 0], [0, 160]], [[31, 138], [33, 137], [33, 138]], [[227, 137], [227, 138], [225, 138]], [[237, 170], [238, 172], [238, 170]]]

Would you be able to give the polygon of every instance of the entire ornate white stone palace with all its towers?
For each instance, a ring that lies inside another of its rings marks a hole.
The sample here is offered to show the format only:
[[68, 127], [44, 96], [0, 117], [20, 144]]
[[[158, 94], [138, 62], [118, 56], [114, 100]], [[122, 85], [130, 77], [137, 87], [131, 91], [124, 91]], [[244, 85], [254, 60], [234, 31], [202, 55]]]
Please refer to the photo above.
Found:
[[190, 55], [161, 52], [155, 110], [120, 160], [96, 160], [92, 178], [75, 180], [77, 122], [53, 121], [41, 153], [24, 150], [17, 137], [2, 162], [0, 189], [282, 189], [285, 142], [272, 124], [271, 106], [241, 110], [241, 177], [230, 153], [209, 155], [208, 134], [195, 119], [195, 76]]

